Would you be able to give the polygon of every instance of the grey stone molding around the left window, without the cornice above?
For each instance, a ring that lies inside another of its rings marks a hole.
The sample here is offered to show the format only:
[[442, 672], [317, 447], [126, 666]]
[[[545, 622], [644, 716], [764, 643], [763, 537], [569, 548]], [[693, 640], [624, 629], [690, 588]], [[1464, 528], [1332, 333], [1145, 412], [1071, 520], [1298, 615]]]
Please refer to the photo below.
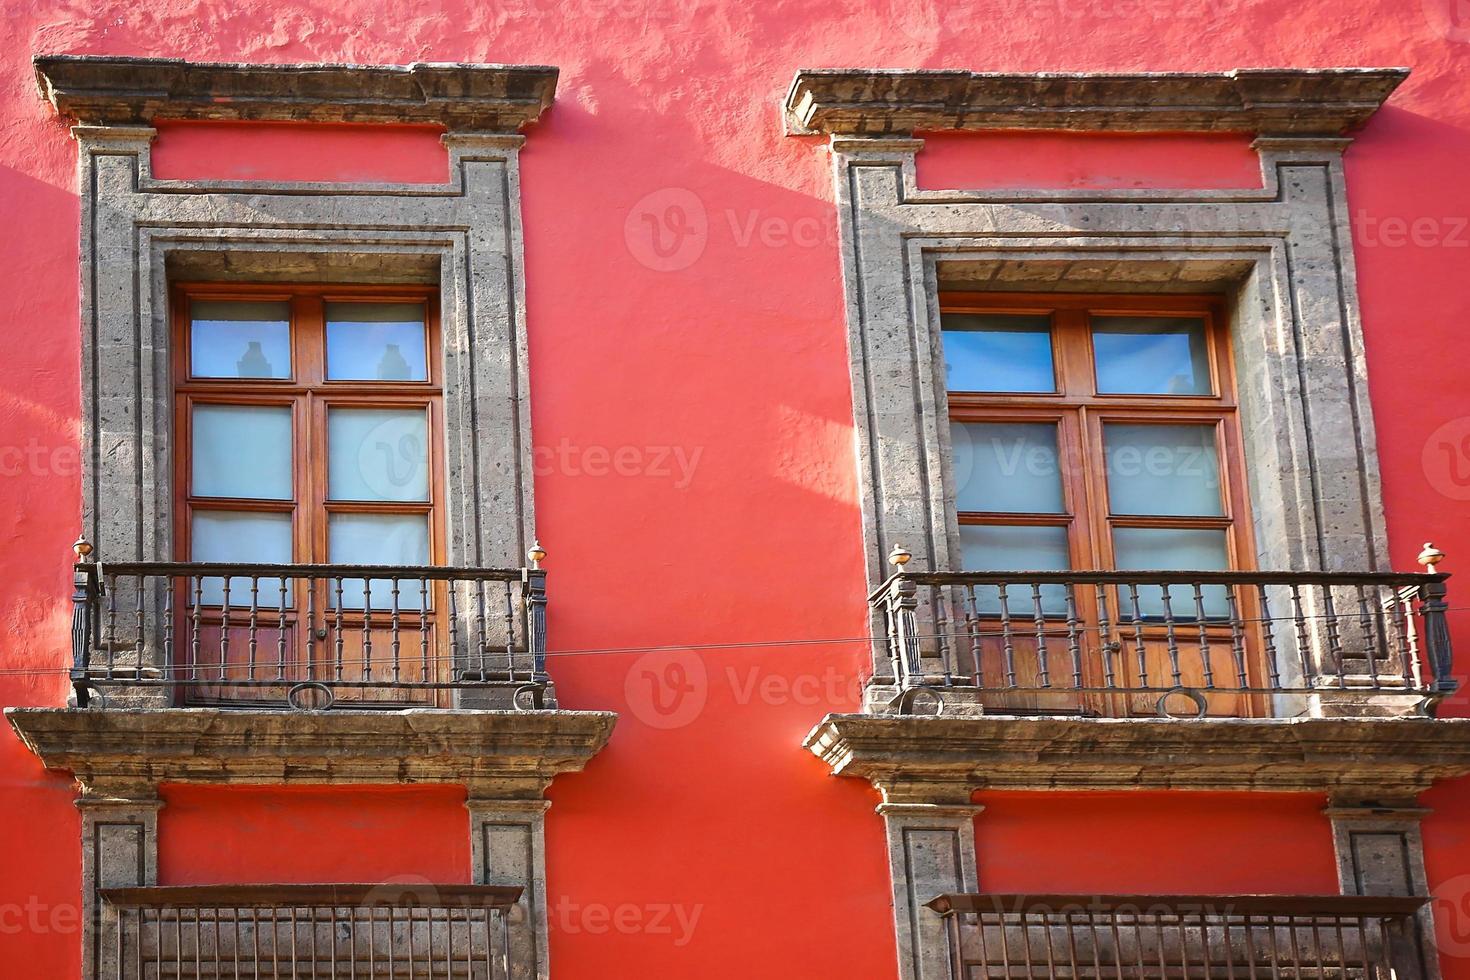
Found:
[[[179, 269], [438, 285], [445, 558], [519, 567], [535, 538], [516, 134], [444, 137], [442, 184], [156, 179], [147, 126], [75, 126], [81, 192], [82, 526], [103, 561], [169, 561]], [[353, 275], [356, 273], [356, 275]], [[394, 276], [388, 276], [390, 279]], [[160, 505], [162, 501], [162, 505]], [[146, 601], [160, 608], [160, 597]], [[150, 633], [153, 636], [154, 633]], [[162, 666], [146, 642], [140, 669]], [[548, 693], [554, 704], [554, 692]], [[504, 707], [460, 696], [462, 707]]]

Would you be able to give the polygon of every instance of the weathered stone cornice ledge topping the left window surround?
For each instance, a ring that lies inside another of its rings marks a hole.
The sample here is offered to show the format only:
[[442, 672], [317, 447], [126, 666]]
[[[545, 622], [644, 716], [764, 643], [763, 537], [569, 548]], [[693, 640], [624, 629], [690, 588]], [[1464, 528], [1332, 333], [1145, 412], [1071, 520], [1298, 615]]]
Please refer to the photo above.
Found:
[[545, 65], [229, 65], [40, 54], [41, 94], [82, 125], [154, 119], [415, 122], [516, 132], [551, 104]]

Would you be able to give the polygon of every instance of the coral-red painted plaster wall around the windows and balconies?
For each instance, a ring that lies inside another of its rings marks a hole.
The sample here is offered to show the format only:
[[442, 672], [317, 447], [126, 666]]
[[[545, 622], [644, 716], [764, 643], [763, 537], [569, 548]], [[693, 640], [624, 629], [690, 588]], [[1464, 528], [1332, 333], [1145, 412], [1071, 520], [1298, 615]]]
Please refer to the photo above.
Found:
[[[1348, 156], [1372, 395], [1395, 564], [1429, 538], [1451, 570], [1470, 561], [1463, 0], [0, 4], [4, 704], [66, 696], [79, 517], [75, 147], [35, 94], [31, 54], [562, 68], [522, 157], [537, 511], [562, 699], [622, 714], [609, 749], [550, 793], [562, 980], [894, 976], [876, 799], [800, 749], [823, 713], [857, 704], [867, 658], [853, 639], [866, 617], [829, 160], [782, 137], [778, 113], [800, 66], [1411, 66]], [[173, 126], [156, 159], [175, 176], [432, 181], [442, 167], [432, 132], [351, 126]], [[938, 187], [1254, 179], [1230, 138], [944, 137], [920, 170]], [[656, 242], [644, 216], [670, 209], [689, 234]], [[1470, 648], [1464, 611], [1455, 629]], [[692, 649], [706, 644], [723, 646]], [[1470, 789], [1429, 799], [1446, 976], [1470, 977]], [[78, 973], [71, 801], [65, 776], [0, 732], [6, 977]], [[176, 788], [166, 801], [165, 882], [469, 873], [454, 792]], [[1313, 799], [986, 802], [992, 887], [1332, 884]]]

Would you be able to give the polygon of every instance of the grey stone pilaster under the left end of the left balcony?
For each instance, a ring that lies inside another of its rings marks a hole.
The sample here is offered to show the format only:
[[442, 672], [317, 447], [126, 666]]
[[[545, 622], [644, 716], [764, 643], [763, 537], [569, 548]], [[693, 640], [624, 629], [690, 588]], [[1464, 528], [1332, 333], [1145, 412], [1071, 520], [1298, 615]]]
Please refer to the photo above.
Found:
[[118, 976], [118, 917], [97, 890], [157, 884], [159, 799], [151, 783], [91, 783], [82, 788], [82, 976]]

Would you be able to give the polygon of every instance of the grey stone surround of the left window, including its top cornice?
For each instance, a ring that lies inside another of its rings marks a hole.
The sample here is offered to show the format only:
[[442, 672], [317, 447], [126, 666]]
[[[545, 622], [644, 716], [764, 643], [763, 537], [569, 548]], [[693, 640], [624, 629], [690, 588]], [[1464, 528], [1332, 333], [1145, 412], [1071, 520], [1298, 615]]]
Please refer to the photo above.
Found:
[[[103, 560], [172, 560], [168, 320], [176, 278], [428, 282], [440, 291], [447, 560], [534, 541], [519, 129], [545, 66], [196, 65], [46, 56], [81, 190], [82, 522]], [[156, 119], [440, 123], [441, 184], [153, 175]]]

